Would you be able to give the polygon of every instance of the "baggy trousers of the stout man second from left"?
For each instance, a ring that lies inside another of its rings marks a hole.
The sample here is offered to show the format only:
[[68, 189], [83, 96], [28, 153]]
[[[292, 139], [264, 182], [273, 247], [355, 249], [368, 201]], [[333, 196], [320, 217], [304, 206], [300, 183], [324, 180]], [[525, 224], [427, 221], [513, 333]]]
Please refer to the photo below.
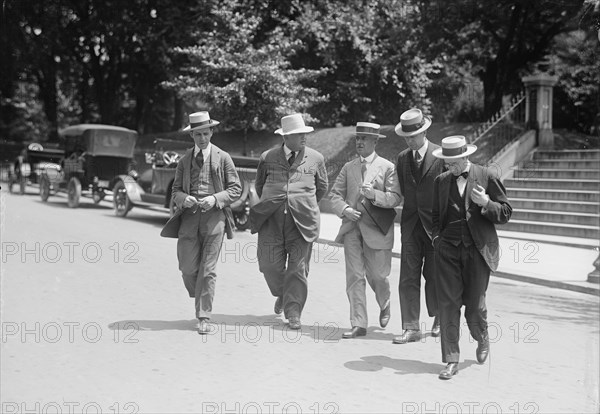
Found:
[[273, 296], [283, 297], [284, 316], [300, 317], [308, 296], [308, 270], [312, 242], [296, 227], [285, 205], [275, 211], [258, 232], [257, 257]]

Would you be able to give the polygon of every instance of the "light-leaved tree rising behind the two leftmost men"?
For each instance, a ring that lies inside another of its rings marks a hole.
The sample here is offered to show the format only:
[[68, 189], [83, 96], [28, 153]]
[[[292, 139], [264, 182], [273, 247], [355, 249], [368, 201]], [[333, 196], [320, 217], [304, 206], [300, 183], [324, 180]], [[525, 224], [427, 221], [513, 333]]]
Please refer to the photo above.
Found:
[[209, 106], [226, 128], [242, 130], [245, 155], [249, 130], [274, 129], [281, 116], [323, 100], [312, 86], [322, 71], [292, 69], [287, 55], [297, 43], [277, 29], [255, 45], [261, 19], [237, 2], [220, 2], [210, 14], [214, 29], [197, 33], [197, 45], [176, 49], [187, 64], [165, 85], [192, 105]]

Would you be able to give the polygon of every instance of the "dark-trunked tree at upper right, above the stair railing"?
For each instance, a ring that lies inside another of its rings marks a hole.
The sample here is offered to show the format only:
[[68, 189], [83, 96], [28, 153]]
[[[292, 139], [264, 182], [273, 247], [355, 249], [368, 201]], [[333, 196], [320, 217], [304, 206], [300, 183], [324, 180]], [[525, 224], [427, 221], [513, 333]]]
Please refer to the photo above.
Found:
[[483, 82], [484, 114], [522, 89], [521, 76], [549, 52], [553, 39], [576, 28], [583, 0], [414, 0], [420, 44], [430, 58], [470, 68]]

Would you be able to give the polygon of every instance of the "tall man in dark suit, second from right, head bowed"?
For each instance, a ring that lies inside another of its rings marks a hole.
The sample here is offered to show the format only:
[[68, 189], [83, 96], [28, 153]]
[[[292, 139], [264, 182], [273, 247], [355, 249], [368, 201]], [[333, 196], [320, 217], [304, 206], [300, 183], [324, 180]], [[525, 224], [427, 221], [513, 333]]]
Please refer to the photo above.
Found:
[[431, 336], [439, 336], [437, 317], [435, 255], [431, 245], [431, 209], [433, 180], [444, 169], [444, 162], [433, 156], [438, 145], [429, 142], [426, 134], [431, 119], [419, 109], [410, 109], [400, 116], [396, 134], [404, 137], [408, 148], [398, 155], [396, 170], [404, 196], [400, 231], [400, 310], [402, 335], [393, 343], [405, 344], [421, 338], [421, 272], [425, 278], [425, 304], [429, 316], [435, 317]]

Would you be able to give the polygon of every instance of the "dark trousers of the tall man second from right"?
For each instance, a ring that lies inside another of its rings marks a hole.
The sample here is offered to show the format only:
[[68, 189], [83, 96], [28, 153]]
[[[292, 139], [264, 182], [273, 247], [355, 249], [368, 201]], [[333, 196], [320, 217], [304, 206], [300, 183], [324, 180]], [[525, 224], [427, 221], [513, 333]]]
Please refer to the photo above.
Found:
[[400, 311], [402, 329], [421, 329], [421, 270], [425, 279], [425, 305], [429, 316], [436, 316], [435, 251], [431, 239], [418, 220], [409, 241], [402, 243], [400, 259]]

